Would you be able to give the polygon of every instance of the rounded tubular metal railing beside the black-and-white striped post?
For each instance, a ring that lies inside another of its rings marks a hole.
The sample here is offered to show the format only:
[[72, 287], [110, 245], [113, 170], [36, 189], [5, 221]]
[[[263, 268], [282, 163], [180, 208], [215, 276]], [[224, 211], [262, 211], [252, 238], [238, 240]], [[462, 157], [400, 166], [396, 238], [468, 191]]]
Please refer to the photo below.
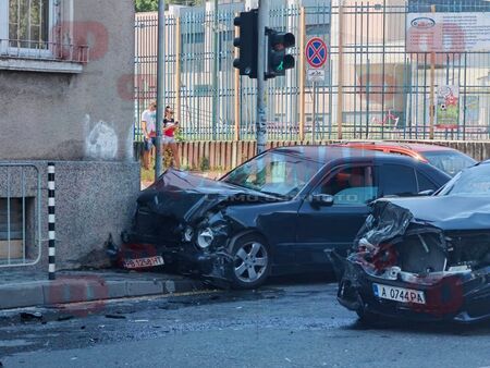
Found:
[[0, 268], [41, 257], [41, 175], [34, 164], [0, 163]]

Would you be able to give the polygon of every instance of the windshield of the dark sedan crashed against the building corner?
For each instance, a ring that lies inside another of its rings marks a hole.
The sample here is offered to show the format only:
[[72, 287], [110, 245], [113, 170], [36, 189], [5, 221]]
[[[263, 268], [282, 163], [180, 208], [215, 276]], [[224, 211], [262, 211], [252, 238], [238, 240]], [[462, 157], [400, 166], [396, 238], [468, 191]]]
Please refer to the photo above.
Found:
[[268, 151], [236, 168], [221, 181], [278, 197], [294, 197], [322, 165], [297, 156]]

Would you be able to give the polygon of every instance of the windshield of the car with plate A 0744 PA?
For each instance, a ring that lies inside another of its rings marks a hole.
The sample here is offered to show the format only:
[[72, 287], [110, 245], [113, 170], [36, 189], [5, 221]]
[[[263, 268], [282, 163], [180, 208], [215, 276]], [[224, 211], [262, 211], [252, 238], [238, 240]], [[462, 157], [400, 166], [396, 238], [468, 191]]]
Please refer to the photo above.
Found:
[[490, 164], [479, 164], [460, 172], [437, 195], [460, 194], [490, 196]]

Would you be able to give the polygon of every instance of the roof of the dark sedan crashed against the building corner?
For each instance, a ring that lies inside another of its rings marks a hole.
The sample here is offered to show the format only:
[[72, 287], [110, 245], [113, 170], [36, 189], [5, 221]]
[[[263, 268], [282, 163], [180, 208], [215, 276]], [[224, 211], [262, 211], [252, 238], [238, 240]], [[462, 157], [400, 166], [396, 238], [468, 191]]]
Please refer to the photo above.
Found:
[[272, 148], [269, 151], [297, 156], [302, 159], [307, 159], [310, 161], [319, 163], [329, 163], [336, 159], [350, 158], [350, 159], [360, 159], [360, 158], [383, 158], [387, 160], [405, 160], [412, 161], [412, 158], [404, 156], [388, 155], [384, 152], [379, 152], [375, 150], [365, 150], [358, 148], [340, 147], [340, 146], [285, 146]]

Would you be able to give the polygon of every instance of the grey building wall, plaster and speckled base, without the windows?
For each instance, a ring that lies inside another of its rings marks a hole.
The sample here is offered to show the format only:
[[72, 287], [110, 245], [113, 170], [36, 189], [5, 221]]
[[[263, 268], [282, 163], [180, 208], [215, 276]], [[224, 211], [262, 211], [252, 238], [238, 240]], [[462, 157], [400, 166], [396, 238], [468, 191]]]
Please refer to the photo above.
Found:
[[[61, 1], [63, 41], [88, 45], [90, 60], [81, 65], [0, 57], [0, 172], [7, 170], [1, 161], [29, 161], [47, 177], [47, 161], [56, 161], [57, 266], [73, 268], [107, 263], [103, 243], [109, 233], [119, 241], [139, 191], [134, 1]], [[46, 185], [42, 205], [47, 230]], [[46, 246], [44, 241], [38, 267], [47, 261]]]

